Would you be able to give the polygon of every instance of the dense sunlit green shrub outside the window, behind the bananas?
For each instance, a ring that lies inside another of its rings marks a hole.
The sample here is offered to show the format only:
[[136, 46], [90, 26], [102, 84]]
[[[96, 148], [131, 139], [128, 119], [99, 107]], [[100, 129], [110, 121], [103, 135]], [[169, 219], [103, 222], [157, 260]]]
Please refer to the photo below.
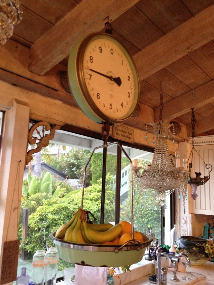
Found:
[[[105, 205], [105, 223], [114, 221], [115, 209], [115, 190], [114, 179], [112, 175], [106, 175], [106, 205]], [[56, 183], [57, 184], [57, 183]], [[58, 185], [56, 185], [57, 187]], [[55, 186], [54, 186], [55, 187]], [[65, 187], [68, 191], [69, 189]], [[56, 188], [55, 188], [56, 189]], [[65, 191], [65, 192], [66, 192]], [[76, 190], [72, 191], [76, 192]], [[31, 260], [36, 250], [53, 246], [54, 243], [49, 237], [49, 233], [56, 231], [61, 225], [72, 218], [73, 211], [77, 211], [81, 207], [82, 191], [73, 193], [68, 197], [46, 196], [37, 193], [29, 198], [24, 198], [22, 207], [29, 207], [28, 217], [28, 236], [24, 243], [21, 242], [20, 247], [28, 252], [27, 258]], [[98, 219], [100, 218], [101, 208], [101, 180], [85, 189], [83, 200], [83, 209], [90, 210]], [[93, 221], [93, 218], [91, 218]], [[18, 238], [22, 239], [22, 223], [19, 223]], [[65, 263], [60, 260], [60, 268]], [[66, 267], [66, 266], [65, 266]]]

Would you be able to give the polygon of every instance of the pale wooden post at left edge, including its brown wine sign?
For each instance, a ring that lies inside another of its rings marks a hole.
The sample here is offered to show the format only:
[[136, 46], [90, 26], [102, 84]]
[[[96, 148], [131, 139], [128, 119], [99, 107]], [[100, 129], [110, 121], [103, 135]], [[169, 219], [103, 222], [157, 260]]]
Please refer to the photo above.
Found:
[[0, 151], [0, 284], [13, 285], [17, 276], [17, 232], [29, 112], [29, 106], [18, 99], [13, 100], [13, 106], [5, 112]]

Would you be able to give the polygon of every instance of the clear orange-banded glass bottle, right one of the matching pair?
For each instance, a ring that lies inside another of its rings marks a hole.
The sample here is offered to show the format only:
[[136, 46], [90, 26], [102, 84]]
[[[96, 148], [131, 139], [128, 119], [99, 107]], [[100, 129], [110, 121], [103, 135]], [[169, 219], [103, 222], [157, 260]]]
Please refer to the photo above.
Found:
[[45, 285], [56, 285], [56, 273], [59, 265], [59, 255], [56, 248], [49, 248], [47, 255], [47, 273]]

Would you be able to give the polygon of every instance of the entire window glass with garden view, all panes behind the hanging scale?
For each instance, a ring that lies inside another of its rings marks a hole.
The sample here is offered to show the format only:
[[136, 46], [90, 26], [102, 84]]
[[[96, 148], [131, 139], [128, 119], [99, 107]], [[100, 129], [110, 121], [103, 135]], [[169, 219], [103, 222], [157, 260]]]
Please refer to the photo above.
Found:
[[[63, 145], [61, 144], [63, 141]], [[35, 173], [36, 158], [28, 165], [24, 174], [23, 197], [19, 221], [19, 239], [22, 239], [22, 215], [23, 208], [28, 208], [28, 236], [20, 244], [20, 248], [28, 251], [25, 261], [20, 257], [17, 275], [21, 268], [27, 267], [27, 273], [32, 280], [32, 257], [36, 250], [47, 250], [54, 245], [49, 238], [49, 233], [54, 232], [65, 222], [68, 222], [73, 211], [81, 207], [82, 185], [85, 165], [94, 147], [102, 146], [103, 141], [77, 135], [74, 133], [57, 131], [56, 137], [47, 148], [40, 153], [39, 165], [41, 168], [41, 179], [44, 178], [43, 171], [49, 172], [47, 181], [52, 183], [52, 191], [43, 192], [31, 189], [31, 180], [40, 185], [39, 178], [33, 178]], [[145, 168], [150, 163], [153, 153], [123, 146], [126, 153], [133, 160], [138, 157], [138, 165]], [[115, 198], [116, 198], [116, 174], [117, 174], [117, 145], [106, 149], [106, 183], [105, 183], [105, 207], [104, 223], [115, 223]], [[97, 223], [100, 222], [101, 213], [101, 189], [103, 175], [104, 149], [97, 148], [86, 170], [86, 183], [83, 199], [83, 209], [90, 210]], [[37, 156], [37, 154], [35, 155]], [[131, 222], [130, 202], [130, 161], [122, 153], [120, 180], [120, 221]], [[30, 175], [30, 176], [29, 176]], [[42, 176], [43, 175], [43, 176]], [[52, 177], [52, 179], [50, 179]], [[49, 180], [48, 180], [49, 179]], [[37, 186], [38, 186], [37, 185]], [[32, 185], [31, 185], [32, 186]], [[133, 179], [133, 214], [135, 230], [146, 232], [151, 227], [156, 237], [161, 239], [161, 208], [154, 209], [154, 195], [147, 193], [147, 197], [140, 196], [137, 185]], [[93, 216], [90, 216], [94, 222]], [[21, 250], [20, 250], [21, 252]], [[63, 268], [71, 267], [71, 264], [60, 260], [57, 277], [63, 276]], [[61, 270], [61, 272], [60, 272]]]

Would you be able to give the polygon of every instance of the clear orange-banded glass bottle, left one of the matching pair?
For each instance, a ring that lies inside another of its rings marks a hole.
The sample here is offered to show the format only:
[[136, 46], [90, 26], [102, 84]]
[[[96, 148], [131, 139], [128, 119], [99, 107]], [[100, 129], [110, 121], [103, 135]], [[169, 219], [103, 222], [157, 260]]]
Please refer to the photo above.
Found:
[[47, 270], [47, 255], [44, 250], [37, 250], [33, 254], [33, 282], [43, 285]]

